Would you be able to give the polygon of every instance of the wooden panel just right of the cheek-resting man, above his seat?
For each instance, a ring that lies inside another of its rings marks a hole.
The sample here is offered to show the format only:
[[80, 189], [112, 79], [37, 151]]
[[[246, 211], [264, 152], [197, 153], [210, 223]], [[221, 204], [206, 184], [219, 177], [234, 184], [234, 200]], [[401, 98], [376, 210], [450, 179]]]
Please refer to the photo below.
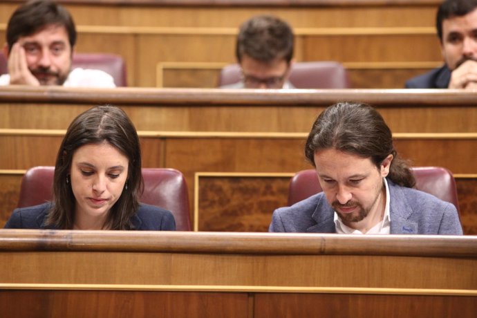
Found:
[[[113, 33], [79, 33], [77, 39], [77, 52], [83, 53], [113, 53], [120, 55], [126, 63], [127, 84], [137, 86], [136, 82], [140, 73], [136, 69], [135, 35]], [[138, 55], [140, 57], [140, 55]]]

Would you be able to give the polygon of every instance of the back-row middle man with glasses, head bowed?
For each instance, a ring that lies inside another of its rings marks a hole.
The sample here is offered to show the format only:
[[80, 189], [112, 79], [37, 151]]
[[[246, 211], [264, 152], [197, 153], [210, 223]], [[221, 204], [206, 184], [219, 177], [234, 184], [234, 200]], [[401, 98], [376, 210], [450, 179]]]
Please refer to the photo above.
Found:
[[271, 15], [245, 21], [236, 41], [242, 81], [221, 88], [294, 88], [288, 82], [293, 45], [293, 31], [285, 21]]

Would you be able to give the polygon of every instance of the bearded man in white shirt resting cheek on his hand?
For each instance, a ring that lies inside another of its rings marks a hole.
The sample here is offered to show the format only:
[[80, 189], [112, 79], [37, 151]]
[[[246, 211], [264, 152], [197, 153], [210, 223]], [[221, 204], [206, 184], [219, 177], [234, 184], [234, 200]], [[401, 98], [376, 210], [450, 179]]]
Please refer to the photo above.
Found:
[[34, 0], [19, 6], [8, 21], [3, 47], [8, 74], [0, 76], [0, 86], [115, 87], [103, 71], [71, 71], [76, 36], [73, 18], [57, 3]]

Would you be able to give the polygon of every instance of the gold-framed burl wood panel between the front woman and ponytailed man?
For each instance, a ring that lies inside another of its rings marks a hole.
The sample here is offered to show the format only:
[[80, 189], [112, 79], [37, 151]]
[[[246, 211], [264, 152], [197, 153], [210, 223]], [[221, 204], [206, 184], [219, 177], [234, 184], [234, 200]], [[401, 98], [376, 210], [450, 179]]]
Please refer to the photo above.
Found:
[[196, 231], [268, 232], [271, 212], [285, 206], [290, 176], [196, 174]]

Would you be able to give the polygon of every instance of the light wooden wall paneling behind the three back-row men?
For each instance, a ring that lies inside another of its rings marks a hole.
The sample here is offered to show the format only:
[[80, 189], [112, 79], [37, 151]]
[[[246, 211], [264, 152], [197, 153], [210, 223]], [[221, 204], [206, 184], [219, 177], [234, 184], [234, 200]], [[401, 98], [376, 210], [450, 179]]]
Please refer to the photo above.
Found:
[[[388, 1], [359, 1], [350, 6], [342, 1], [295, 1], [290, 6], [268, 3], [266, 8], [258, 3], [237, 8], [237, 3], [230, 6], [220, 1], [207, 6], [200, 1], [194, 1], [195, 6], [74, 2], [65, 5], [79, 32], [76, 51], [122, 56], [130, 86], [203, 87], [207, 83], [216, 87], [218, 72], [207, 74], [214, 82], [195, 80], [200, 78], [196, 67], [234, 63], [238, 26], [264, 12], [294, 27], [297, 61], [340, 62], [355, 88], [402, 88], [409, 77], [442, 64], [434, 26], [437, 1], [397, 1], [393, 6]], [[8, 17], [17, 5], [17, 1], [0, 3], [0, 37], [4, 38]], [[165, 70], [164, 77], [157, 77], [156, 68]]]

